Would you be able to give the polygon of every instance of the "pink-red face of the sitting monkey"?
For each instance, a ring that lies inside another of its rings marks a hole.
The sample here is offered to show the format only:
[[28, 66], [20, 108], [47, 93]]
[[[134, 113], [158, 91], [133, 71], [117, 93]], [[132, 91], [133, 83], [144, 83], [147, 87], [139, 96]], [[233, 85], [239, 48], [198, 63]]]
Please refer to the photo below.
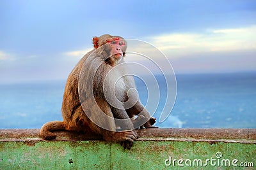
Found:
[[113, 56], [116, 60], [122, 59], [126, 50], [124, 39], [111, 38], [108, 39], [107, 42], [111, 45], [110, 55]]

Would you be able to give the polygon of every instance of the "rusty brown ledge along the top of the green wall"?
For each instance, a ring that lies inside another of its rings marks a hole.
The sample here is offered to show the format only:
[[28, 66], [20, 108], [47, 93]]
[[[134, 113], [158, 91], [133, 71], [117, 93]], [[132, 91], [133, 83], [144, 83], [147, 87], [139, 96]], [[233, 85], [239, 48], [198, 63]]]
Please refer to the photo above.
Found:
[[[44, 141], [40, 129], [0, 129], [0, 141]], [[256, 143], [256, 129], [138, 129], [138, 141], [224, 141]], [[68, 131], [54, 132], [54, 141], [102, 140], [100, 136]]]

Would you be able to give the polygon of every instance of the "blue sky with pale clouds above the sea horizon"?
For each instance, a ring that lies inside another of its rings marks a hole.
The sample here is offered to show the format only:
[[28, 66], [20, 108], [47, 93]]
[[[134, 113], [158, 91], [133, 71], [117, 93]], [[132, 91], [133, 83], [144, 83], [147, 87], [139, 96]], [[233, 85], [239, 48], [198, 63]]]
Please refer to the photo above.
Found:
[[255, 0], [146, 2], [0, 0], [0, 82], [66, 79], [101, 34], [151, 43], [175, 73], [256, 71]]

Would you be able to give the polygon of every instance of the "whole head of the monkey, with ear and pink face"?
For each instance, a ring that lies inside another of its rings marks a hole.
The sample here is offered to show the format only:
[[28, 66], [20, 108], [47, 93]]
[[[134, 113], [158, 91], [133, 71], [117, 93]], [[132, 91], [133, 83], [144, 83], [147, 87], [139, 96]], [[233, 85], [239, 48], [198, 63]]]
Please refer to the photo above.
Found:
[[[123, 59], [127, 48], [127, 43], [120, 36], [111, 36], [104, 34], [100, 37], [93, 38], [93, 46], [100, 52], [107, 55], [109, 62], [114, 64]], [[100, 49], [102, 48], [102, 49]]]

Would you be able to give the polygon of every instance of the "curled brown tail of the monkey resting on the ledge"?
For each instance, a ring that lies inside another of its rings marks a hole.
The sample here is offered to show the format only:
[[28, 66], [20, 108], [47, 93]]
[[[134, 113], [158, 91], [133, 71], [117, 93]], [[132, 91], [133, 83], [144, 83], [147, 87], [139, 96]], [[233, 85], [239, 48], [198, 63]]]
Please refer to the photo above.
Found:
[[62, 121], [52, 121], [45, 123], [40, 129], [40, 137], [51, 140], [56, 138], [56, 134], [51, 131], [65, 130], [66, 125]]

